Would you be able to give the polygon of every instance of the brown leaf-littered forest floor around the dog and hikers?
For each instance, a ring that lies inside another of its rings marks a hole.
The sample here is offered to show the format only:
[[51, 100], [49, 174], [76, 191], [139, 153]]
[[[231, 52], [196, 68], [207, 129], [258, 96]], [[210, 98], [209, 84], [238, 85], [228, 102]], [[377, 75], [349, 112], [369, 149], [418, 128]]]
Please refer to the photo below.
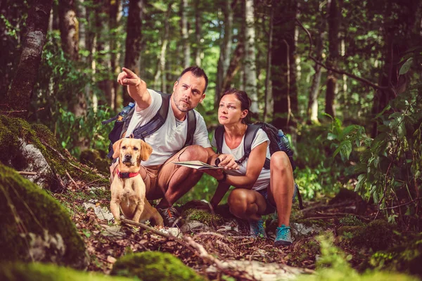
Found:
[[[365, 204], [354, 194], [345, 193], [346, 197], [335, 197], [327, 202], [305, 202], [303, 210], [299, 210], [298, 203], [295, 202], [291, 218], [294, 242], [290, 247], [274, 247], [274, 242], [270, 238], [248, 237], [248, 233], [242, 231], [240, 227], [235, 235], [233, 232], [231, 235], [222, 235], [217, 230], [219, 226], [215, 221], [205, 223], [205, 230], [190, 231], [184, 235], [190, 236], [193, 241], [202, 245], [208, 254], [222, 262], [253, 261], [257, 268], [262, 268], [265, 263], [275, 265], [276, 269], [286, 265], [283, 268], [285, 272], [289, 271], [288, 268], [291, 266], [300, 268], [298, 273], [312, 273], [316, 267], [316, 259], [320, 255], [316, 242], [317, 235], [331, 231], [334, 237], [338, 237], [338, 228], [347, 224], [347, 221], [371, 221], [376, 214], [376, 207]], [[236, 280], [268, 280], [264, 275], [246, 273], [247, 270], [240, 264], [236, 265], [236, 270], [221, 270], [210, 266], [209, 260], [201, 256], [198, 251], [194, 251], [192, 247], [186, 247], [186, 244], [180, 242], [181, 239], [162, 237], [124, 223], [115, 225], [108, 212], [110, 192], [106, 186], [93, 186], [76, 181], [70, 183], [65, 192], [54, 193], [53, 196], [70, 211], [72, 221], [75, 222], [87, 244], [91, 256], [89, 271], [108, 274], [116, 259], [124, 254], [136, 251], [164, 251], [177, 256], [187, 266], [210, 280], [227, 280], [229, 277]], [[100, 213], [103, 210], [103, 216], [98, 216], [98, 210]], [[224, 207], [220, 212], [228, 213], [224, 211]], [[359, 215], [355, 216], [352, 213]], [[271, 216], [264, 218], [267, 218], [265, 224], [271, 237], [276, 228], [275, 220]], [[224, 220], [229, 224], [234, 223], [226, 218]], [[343, 250], [346, 254], [352, 255], [350, 263], [354, 268], [362, 267], [370, 256], [368, 251], [362, 249], [343, 247]]]

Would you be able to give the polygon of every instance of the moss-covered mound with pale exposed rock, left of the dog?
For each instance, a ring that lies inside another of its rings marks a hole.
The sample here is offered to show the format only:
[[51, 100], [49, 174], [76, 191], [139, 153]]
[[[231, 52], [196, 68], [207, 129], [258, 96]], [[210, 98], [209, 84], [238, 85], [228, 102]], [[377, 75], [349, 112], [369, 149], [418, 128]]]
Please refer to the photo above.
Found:
[[53, 191], [61, 190], [58, 176], [63, 181], [68, 180], [66, 172], [74, 179], [108, 185], [108, 178], [84, 169], [76, 159], [63, 155], [65, 152], [61, 150], [56, 137], [46, 126], [28, 124], [20, 118], [0, 116], [1, 163], [18, 171], [37, 172], [37, 176], [28, 178]]

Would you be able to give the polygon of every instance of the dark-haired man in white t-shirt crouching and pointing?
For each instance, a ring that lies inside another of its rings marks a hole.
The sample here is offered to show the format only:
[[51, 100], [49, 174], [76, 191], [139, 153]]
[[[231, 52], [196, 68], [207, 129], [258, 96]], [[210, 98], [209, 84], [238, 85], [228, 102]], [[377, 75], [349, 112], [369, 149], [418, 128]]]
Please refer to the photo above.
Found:
[[[159, 93], [146, 88], [146, 83], [134, 72], [122, 68], [117, 77], [119, 84], [127, 86], [129, 96], [136, 105], [134, 115], [130, 119], [125, 137], [132, 134], [138, 126], [142, 126], [160, 109], [162, 98]], [[173, 161], [199, 160], [207, 162], [208, 155], [213, 154], [208, 139], [207, 127], [203, 117], [196, 115], [196, 130], [193, 134], [193, 145], [186, 148], [184, 143], [187, 135], [187, 115], [198, 103], [205, 98], [208, 78], [200, 67], [188, 67], [181, 72], [174, 82], [173, 93], [170, 97], [170, 108], [165, 123], [145, 138], [152, 146], [151, 157], [141, 163], [139, 174], [146, 185], [148, 200], [162, 198], [156, 206], [167, 226], [174, 225], [177, 211], [172, 204], [190, 190], [202, 176], [202, 171], [186, 166], [173, 164]], [[115, 164], [110, 166], [112, 177], [116, 173]]]

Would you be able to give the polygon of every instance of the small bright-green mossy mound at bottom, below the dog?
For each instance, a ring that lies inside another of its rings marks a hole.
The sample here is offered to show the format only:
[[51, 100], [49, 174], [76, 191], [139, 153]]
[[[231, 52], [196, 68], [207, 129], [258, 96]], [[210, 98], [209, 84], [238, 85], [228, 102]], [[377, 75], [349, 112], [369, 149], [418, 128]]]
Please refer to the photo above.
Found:
[[156, 280], [205, 280], [172, 254], [145, 251], [118, 259], [110, 275], [137, 276], [144, 281]]

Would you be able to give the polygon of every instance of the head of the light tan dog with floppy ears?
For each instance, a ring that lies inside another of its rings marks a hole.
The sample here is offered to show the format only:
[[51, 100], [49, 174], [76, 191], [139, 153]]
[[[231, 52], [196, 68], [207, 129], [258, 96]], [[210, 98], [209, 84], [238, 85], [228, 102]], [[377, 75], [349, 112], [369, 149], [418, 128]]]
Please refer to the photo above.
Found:
[[113, 158], [119, 157], [119, 163], [127, 167], [138, 167], [153, 152], [148, 143], [137, 138], [122, 138], [113, 144]]

